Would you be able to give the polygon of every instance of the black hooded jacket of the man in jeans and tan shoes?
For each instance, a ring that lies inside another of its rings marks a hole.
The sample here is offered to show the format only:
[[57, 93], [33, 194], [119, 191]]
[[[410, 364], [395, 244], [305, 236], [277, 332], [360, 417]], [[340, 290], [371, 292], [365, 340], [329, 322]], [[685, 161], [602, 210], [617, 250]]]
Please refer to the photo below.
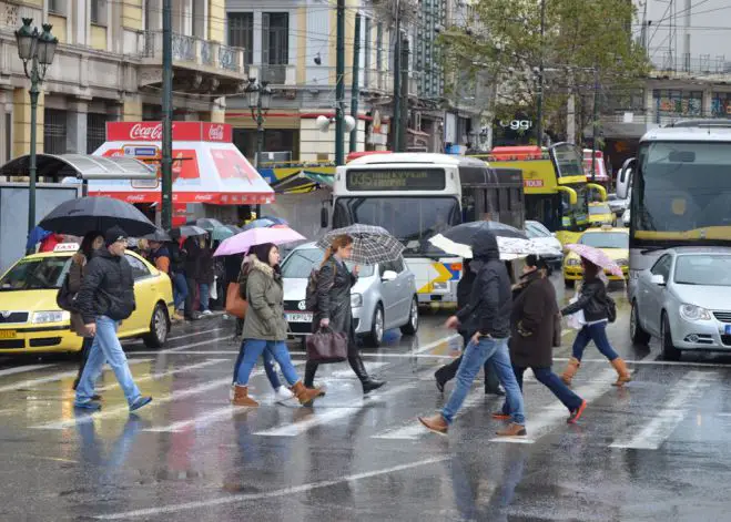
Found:
[[471, 337], [479, 331], [496, 339], [510, 335], [512, 305], [510, 278], [500, 260], [497, 239], [489, 232], [479, 232], [473, 239], [475, 259], [470, 268], [477, 272], [469, 304], [457, 313], [463, 328]]

